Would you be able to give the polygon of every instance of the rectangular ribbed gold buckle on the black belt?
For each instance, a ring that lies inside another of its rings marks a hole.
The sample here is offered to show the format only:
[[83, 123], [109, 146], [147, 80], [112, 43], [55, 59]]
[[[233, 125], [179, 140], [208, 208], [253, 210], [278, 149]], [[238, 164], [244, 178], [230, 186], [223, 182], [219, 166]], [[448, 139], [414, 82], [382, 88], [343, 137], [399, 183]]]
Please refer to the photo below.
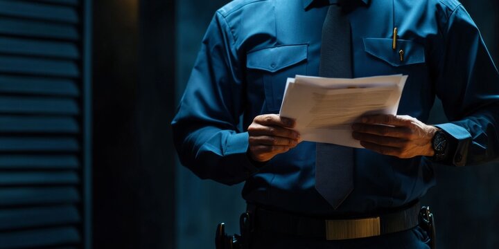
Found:
[[380, 217], [326, 220], [326, 240], [359, 239], [381, 235]]

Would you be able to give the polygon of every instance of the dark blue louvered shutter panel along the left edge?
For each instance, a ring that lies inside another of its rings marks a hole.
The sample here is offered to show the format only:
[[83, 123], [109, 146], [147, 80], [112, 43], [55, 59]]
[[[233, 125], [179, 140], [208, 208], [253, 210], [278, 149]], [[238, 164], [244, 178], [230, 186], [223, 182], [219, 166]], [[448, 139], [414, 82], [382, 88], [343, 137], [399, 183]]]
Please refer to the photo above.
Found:
[[0, 0], [0, 249], [85, 246], [82, 10], [85, 1]]

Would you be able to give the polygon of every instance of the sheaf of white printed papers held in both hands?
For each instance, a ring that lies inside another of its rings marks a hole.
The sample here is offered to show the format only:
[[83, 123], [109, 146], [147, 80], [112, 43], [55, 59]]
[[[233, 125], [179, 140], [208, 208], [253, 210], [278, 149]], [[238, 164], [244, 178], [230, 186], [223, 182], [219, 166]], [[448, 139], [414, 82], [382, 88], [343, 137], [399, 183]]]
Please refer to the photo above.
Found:
[[351, 124], [362, 115], [395, 115], [407, 78], [297, 75], [286, 82], [279, 115], [296, 120], [295, 129], [303, 140], [362, 148], [351, 136]]

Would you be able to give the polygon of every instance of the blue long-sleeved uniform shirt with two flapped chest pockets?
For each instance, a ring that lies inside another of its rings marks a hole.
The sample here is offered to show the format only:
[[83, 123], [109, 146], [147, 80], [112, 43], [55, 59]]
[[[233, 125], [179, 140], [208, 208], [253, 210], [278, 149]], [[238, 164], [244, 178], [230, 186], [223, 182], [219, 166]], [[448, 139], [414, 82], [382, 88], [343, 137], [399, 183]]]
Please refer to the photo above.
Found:
[[[247, 156], [247, 127], [278, 113], [287, 77], [318, 75], [327, 6], [318, 0], [236, 0], [204, 36], [172, 122], [183, 165], [201, 178], [246, 181], [243, 198], [304, 214], [366, 214], [418, 199], [434, 185], [430, 160], [355, 150], [354, 190], [338, 210], [315, 190], [315, 143], [268, 163]], [[499, 154], [499, 73], [478, 28], [455, 0], [363, 0], [351, 19], [353, 76], [409, 75], [399, 115], [422, 122], [437, 95], [452, 122], [449, 165]], [[326, 1], [327, 4], [327, 1]], [[396, 49], [392, 48], [398, 28]], [[399, 50], [404, 50], [401, 60]]]

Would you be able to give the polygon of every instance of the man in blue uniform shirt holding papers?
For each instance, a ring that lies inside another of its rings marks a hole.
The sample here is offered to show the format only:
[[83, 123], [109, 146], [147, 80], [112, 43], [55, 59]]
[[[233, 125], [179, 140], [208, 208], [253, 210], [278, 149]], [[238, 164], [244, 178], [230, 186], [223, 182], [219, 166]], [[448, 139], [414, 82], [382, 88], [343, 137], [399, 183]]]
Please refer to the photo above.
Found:
[[[351, 75], [409, 77], [397, 116], [353, 124], [366, 149], [353, 150], [353, 190], [338, 207], [315, 189], [315, 142], [302, 142], [293, 120], [277, 115], [287, 77], [319, 75], [322, 26], [336, 1], [232, 1], [204, 36], [172, 122], [175, 146], [200, 178], [245, 181], [243, 198], [261, 221], [252, 248], [426, 248], [414, 222], [397, 218], [392, 229], [385, 216], [414, 210], [435, 184], [433, 161], [464, 166], [498, 157], [499, 73], [461, 4], [349, 2]], [[435, 96], [451, 122], [426, 124]], [[341, 225], [324, 228], [326, 220], [353, 219], [378, 219], [381, 232], [336, 240], [331, 233]]]

